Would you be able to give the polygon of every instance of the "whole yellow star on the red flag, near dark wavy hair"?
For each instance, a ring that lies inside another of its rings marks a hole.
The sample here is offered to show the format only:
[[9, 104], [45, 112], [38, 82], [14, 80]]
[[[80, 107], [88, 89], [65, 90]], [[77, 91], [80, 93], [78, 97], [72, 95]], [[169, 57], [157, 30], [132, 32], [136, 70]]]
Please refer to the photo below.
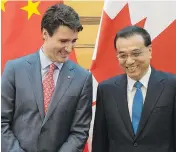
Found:
[[40, 15], [40, 12], [38, 11], [37, 7], [39, 6], [40, 2], [32, 2], [32, 0], [28, 0], [28, 5], [25, 7], [22, 7], [21, 9], [28, 12], [28, 20], [33, 14]]

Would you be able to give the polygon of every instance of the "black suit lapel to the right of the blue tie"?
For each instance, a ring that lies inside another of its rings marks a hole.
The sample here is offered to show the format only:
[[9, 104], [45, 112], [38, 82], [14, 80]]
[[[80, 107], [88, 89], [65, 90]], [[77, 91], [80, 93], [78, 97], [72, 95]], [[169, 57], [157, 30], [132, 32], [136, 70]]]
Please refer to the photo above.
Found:
[[164, 89], [163, 79], [160, 74], [157, 73], [154, 69], [152, 69], [152, 73], [149, 79], [147, 94], [144, 102], [144, 107], [142, 110], [141, 120], [139, 123], [139, 128], [136, 133], [137, 138], [141, 131], [144, 129], [154, 107], [157, 104], [157, 101]]

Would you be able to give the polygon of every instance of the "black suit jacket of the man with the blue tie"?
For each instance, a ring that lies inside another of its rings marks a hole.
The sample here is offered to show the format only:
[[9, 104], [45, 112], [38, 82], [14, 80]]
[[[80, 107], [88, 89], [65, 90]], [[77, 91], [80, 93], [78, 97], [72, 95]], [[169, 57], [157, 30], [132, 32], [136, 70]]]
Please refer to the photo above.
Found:
[[92, 152], [176, 152], [176, 75], [155, 71], [137, 134], [127, 103], [127, 76], [99, 84]]

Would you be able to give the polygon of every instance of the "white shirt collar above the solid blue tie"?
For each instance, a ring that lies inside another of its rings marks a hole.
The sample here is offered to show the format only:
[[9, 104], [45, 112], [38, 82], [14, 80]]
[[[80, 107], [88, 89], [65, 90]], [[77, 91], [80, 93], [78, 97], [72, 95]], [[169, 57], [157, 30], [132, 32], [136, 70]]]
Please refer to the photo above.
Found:
[[[139, 80], [139, 82], [141, 82], [145, 88], [148, 87], [150, 75], [151, 75], [151, 67], [149, 66], [147, 73]], [[132, 91], [134, 84], [136, 83], [136, 80], [131, 79], [128, 75], [127, 79], [128, 79], [128, 90]]]

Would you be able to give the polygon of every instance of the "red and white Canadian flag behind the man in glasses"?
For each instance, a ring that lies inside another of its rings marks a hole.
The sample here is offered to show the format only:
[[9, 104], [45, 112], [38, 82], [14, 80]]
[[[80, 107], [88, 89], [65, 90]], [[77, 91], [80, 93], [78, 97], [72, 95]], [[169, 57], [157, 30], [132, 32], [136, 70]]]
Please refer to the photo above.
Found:
[[[95, 51], [92, 58], [93, 111], [97, 85], [101, 81], [121, 74], [114, 49], [116, 33], [129, 25], [144, 27], [152, 38], [152, 66], [176, 73], [176, 1], [110, 1], [105, 0]], [[94, 113], [90, 129], [91, 151]]]

